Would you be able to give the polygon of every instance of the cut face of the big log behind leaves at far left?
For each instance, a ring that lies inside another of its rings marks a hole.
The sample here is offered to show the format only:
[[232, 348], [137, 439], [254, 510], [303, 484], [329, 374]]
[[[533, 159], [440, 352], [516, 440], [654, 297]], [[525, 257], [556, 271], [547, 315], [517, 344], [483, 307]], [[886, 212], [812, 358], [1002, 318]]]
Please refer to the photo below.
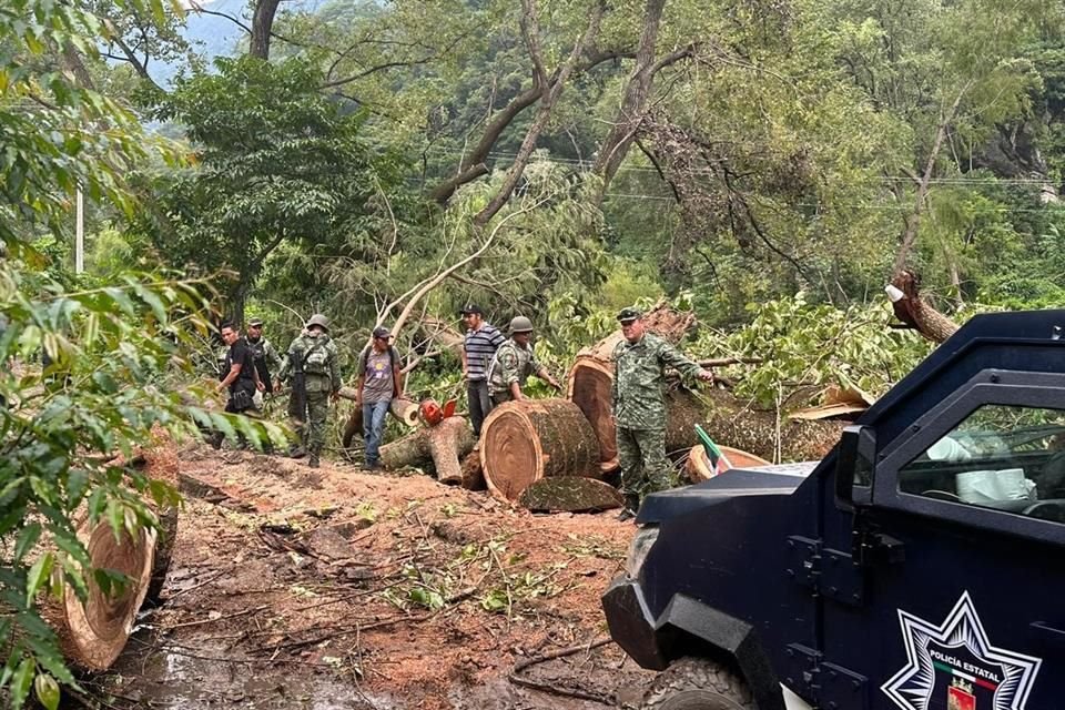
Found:
[[[104, 591], [89, 575], [85, 604], [65, 582], [61, 597], [42, 607], [42, 613], [55, 630], [60, 648], [69, 663], [89, 670], [106, 670], [115, 661], [133, 631], [136, 613], [144, 602], [155, 561], [155, 532], [141, 529], [136, 536], [123, 530], [115, 536], [110, 524], [89, 524], [88, 515], [75, 520], [78, 538], [89, 550], [92, 567], [125, 575], [129, 581], [121, 592]], [[57, 577], [62, 572], [57, 569]]]

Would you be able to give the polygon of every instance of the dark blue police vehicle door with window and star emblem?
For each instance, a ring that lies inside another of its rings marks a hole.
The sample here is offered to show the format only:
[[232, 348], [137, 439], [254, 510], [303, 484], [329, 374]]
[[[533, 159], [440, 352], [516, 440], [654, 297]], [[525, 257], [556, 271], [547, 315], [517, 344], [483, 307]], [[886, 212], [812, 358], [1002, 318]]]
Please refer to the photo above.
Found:
[[1065, 707], [1065, 376], [984, 371], [873, 447], [852, 529], [826, 530], [856, 570], [823, 604], [838, 707]]

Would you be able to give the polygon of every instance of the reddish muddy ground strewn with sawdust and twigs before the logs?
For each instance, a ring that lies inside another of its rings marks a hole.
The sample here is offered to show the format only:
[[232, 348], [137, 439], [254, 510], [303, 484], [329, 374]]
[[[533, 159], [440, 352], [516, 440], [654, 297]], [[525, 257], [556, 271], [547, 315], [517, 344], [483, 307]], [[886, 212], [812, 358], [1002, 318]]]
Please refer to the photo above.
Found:
[[650, 678], [606, 639], [635, 531], [616, 514], [203, 446], [155, 458], [186, 507], [162, 606], [91, 683], [106, 707], [594, 710]]

